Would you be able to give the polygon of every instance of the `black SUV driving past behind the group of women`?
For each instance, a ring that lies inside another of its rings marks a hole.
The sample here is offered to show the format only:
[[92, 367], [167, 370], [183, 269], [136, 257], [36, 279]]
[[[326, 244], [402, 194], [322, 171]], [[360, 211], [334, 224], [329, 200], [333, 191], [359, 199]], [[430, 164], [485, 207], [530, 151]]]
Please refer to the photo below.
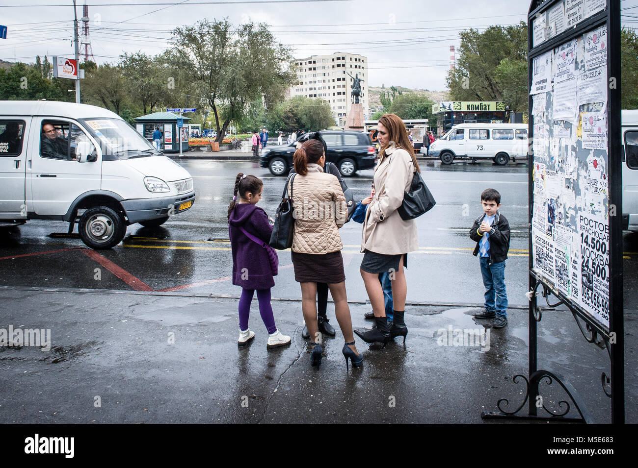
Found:
[[[376, 165], [376, 150], [369, 134], [354, 131], [320, 132], [328, 147], [327, 162], [333, 162], [344, 177], [353, 176], [360, 169], [371, 169]], [[302, 138], [302, 137], [299, 137]], [[275, 176], [286, 176], [293, 166], [295, 143], [266, 146], [260, 166], [268, 167]]]

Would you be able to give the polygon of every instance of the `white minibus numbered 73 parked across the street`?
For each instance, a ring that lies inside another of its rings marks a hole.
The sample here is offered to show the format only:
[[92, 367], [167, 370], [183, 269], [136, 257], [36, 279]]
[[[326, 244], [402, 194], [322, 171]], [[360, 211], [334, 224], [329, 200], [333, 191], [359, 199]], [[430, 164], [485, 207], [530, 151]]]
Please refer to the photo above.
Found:
[[[505, 165], [527, 157], [527, 124], [458, 124], [430, 145], [428, 154], [443, 164], [454, 159], [491, 159]], [[421, 148], [425, 153], [426, 148]]]

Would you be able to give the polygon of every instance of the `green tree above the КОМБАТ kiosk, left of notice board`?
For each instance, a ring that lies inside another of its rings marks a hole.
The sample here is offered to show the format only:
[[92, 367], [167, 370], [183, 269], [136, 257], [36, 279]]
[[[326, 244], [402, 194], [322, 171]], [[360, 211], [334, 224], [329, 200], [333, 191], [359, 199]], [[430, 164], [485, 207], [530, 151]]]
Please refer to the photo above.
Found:
[[527, 25], [490, 26], [460, 33], [457, 66], [447, 85], [455, 101], [505, 101], [514, 112], [528, 111]]

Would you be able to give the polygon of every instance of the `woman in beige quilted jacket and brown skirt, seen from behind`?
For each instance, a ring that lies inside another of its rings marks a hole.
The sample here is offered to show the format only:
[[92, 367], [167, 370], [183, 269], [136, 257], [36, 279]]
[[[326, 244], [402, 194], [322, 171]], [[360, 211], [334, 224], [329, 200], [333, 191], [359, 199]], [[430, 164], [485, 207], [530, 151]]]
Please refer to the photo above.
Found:
[[339, 227], [348, 218], [346, 198], [335, 176], [323, 172], [325, 154], [316, 139], [306, 141], [293, 157], [296, 175], [288, 182], [293, 201], [295, 230], [291, 247], [295, 280], [301, 285], [302, 311], [313, 351], [311, 364], [320, 365], [323, 353], [318, 333], [316, 283], [328, 283], [334, 300], [334, 315], [345, 339], [343, 355], [359, 367], [363, 357], [357, 353], [352, 320], [346, 297], [346, 277], [341, 257]]

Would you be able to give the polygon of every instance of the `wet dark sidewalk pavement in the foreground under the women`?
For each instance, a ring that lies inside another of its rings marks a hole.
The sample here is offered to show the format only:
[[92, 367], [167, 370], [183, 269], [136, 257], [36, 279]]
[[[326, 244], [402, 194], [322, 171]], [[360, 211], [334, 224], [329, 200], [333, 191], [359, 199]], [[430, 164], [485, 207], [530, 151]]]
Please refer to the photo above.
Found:
[[[279, 329], [292, 336], [275, 350], [266, 348], [256, 298], [249, 322], [256, 337], [246, 348], [237, 346], [233, 298], [3, 287], [0, 301], [0, 329], [50, 329], [48, 351], [0, 347], [0, 423], [481, 423], [481, 411], [496, 411], [498, 399], [511, 409], [524, 398], [524, 383], [512, 377], [527, 374], [526, 309], [509, 309], [507, 327], [488, 334], [489, 321], [471, 317], [475, 308], [408, 306], [406, 343], [399, 337], [382, 349], [356, 337], [364, 364], [346, 371], [332, 303], [337, 337], [325, 339], [316, 369], [299, 301], [272, 301]], [[369, 310], [350, 304], [355, 328], [371, 327], [363, 318]], [[633, 423], [635, 318], [631, 311], [625, 322]], [[596, 422], [610, 422], [600, 385], [607, 352], [586, 343], [567, 311], [544, 310], [538, 326], [539, 368], [570, 379]], [[459, 345], [463, 330], [468, 338]], [[544, 388], [545, 406], [560, 410], [560, 387]]]

